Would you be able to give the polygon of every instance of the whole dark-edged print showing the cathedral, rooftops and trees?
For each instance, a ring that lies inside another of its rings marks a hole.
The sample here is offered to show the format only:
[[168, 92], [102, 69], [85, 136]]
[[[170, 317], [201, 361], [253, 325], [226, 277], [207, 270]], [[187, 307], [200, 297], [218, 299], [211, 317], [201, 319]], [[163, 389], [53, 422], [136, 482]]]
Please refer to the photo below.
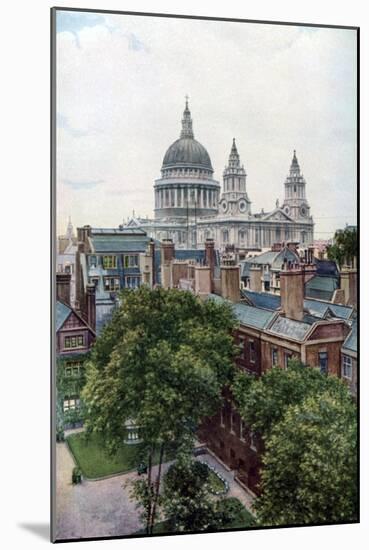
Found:
[[53, 8], [52, 540], [359, 521], [359, 29]]

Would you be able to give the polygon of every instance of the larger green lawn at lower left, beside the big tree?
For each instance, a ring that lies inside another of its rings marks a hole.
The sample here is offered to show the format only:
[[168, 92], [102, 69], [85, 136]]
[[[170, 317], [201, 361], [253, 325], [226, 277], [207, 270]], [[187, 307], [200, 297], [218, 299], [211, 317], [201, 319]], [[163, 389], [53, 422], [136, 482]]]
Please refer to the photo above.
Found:
[[141, 446], [124, 445], [116, 455], [110, 455], [104, 448], [101, 436], [92, 434], [86, 440], [83, 432], [67, 437], [69, 448], [82, 473], [87, 478], [99, 478], [136, 469], [142, 461]]

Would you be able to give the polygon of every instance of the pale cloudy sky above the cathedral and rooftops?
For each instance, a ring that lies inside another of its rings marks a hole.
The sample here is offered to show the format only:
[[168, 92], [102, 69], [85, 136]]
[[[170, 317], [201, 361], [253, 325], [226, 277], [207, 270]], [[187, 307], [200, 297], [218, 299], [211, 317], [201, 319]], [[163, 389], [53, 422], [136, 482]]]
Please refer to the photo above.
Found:
[[221, 183], [236, 139], [252, 212], [296, 149], [315, 238], [356, 223], [354, 30], [58, 11], [56, 56], [58, 234], [153, 217], [186, 94]]

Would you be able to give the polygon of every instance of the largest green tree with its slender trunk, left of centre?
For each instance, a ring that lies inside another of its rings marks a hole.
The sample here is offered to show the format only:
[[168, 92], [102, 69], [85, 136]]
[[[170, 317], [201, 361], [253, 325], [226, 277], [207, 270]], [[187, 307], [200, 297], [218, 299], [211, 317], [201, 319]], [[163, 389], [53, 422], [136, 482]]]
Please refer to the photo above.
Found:
[[[103, 434], [112, 451], [134, 420], [148, 466], [133, 495], [152, 533], [165, 453], [188, 454], [200, 420], [221, 403], [233, 375], [235, 320], [227, 305], [180, 290], [124, 291], [87, 366], [83, 398], [88, 431]], [[157, 472], [153, 463], [158, 461]]]

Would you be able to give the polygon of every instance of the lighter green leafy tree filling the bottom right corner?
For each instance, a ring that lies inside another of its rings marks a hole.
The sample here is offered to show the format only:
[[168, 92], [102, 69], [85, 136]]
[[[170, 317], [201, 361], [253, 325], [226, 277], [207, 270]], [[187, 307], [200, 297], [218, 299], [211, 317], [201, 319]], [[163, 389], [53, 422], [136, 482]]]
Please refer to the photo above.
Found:
[[329, 392], [289, 406], [265, 443], [259, 522], [355, 521], [356, 428], [353, 403]]

